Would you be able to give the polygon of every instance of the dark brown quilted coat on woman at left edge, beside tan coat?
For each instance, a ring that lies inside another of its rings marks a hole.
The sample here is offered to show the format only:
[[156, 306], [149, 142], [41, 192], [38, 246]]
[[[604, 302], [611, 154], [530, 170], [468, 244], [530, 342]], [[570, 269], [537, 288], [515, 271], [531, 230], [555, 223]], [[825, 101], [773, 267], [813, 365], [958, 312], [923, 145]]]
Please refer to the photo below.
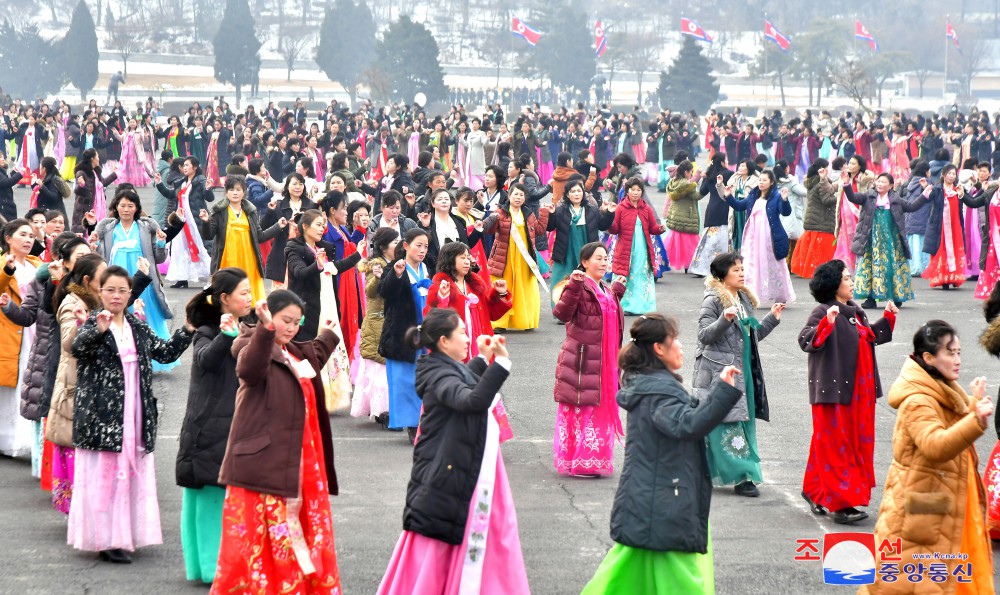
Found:
[[13, 302], [3, 310], [4, 316], [22, 328], [35, 325], [35, 339], [31, 342], [28, 365], [22, 371], [21, 417], [38, 421], [48, 413], [50, 396], [43, 394], [46, 359], [52, 341], [52, 314], [42, 308], [45, 285], [49, 280], [48, 265], [42, 265], [35, 273], [35, 280], [28, 285], [24, 301], [20, 305]]

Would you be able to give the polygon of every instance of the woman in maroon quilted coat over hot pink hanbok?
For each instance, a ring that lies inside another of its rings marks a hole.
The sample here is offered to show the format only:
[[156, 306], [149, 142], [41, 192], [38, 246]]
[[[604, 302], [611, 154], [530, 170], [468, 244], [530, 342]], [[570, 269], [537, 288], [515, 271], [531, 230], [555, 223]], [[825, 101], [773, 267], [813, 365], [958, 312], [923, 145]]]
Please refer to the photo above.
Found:
[[618, 416], [618, 348], [625, 317], [618, 277], [603, 281], [610, 261], [601, 242], [580, 250], [580, 268], [553, 290], [552, 314], [566, 323], [556, 363], [556, 427], [552, 452], [560, 475], [608, 476], [615, 441], [624, 435]]

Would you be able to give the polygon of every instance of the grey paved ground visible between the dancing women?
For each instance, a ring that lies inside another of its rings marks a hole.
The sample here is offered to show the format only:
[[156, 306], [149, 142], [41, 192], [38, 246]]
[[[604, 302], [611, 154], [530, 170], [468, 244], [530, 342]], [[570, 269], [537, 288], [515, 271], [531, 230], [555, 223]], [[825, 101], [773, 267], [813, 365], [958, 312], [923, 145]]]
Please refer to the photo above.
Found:
[[[145, 197], [148, 191], [143, 191]], [[663, 195], [655, 195], [659, 203]], [[26, 192], [18, 193], [20, 208]], [[736, 497], [732, 489], [713, 494], [711, 526], [715, 543], [716, 584], [719, 593], [823, 593], [815, 562], [796, 562], [795, 540], [817, 538], [845, 530], [814, 517], [799, 498], [802, 471], [811, 431], [805, 391], [805, 354], [796, 336], [812, 308], [807, 284], [795, 280], [799, 301], [784, 313], [782, 324], [761, 343], [772, 420], [759, 424], [760, 454], [765, 484], [761, 497]], [[964, 340], [963, 384], [986, 375], [996, 394], [1000, 366], [976, 343], [983, 327], [980, 303], [970, 287], [958, 291], [931, 291], [926, 281], [915, 281], [917, 300], [903, 308], [895, 340], [878, 349], [884, 386], [896, 377], [914, 330], [925, 320], [944, 318], [958, 327]], [[701, 304], [701, 280], [669, 273], [657, 284], [660, 312], [681, 320], [681, 340], [689, 358], [684, 375], [694, 365], [696, 319]], [[179, 310], [193, 291], [169, 290]], [[506, 443], [511, 488], [517, 503], [521, 542], [528, 578], [535, 593], [579, 593], [611, 546], [608, 523], [618, 483], [610, 479], [565, 479], [552, 467], [553, 370], [564, 329], [552, 322], [544, 302], [542, 326], [535, 332], [511, 334], [514, 375], [504, 393], [515, 439]], [[190, 357], [184, 364], [155, 379], [163, 408], [156, 451], [157, 479], [164, 544], [141, 550], [131, 566], [98, 562], [93, 554], [66, 545], [65, 519], [55, 513], [47, 494], [29, 476], [27, 461], [0, 458], [0, 550], [7, 560], [0, 566], [4, 593], [204, 593], [186, 583], [179, 536], [180, 489], [174, 484], [173, 462], [183, 417]], [[876, 477], [885, 479], [890, 463], [895, 412], [880, 402], [876, 411]], [[343, 586], [346, 593], [374, 593], [401, 530], [403, 499], [410, 470], [410, 448], [402, 435], [380, 430], [367, 420], [336, 415], [332, 419], [336, 465], [341, 495], [332, 499]], [[992, 430], [977, 444], [981, 457], [990, 452]], [[874, 517], [882, 489], [874, 494], [869, 511]], [[874, 518], [861, 523], [871, 531]], [[841, 589], [849, 592], [847, 589]]]

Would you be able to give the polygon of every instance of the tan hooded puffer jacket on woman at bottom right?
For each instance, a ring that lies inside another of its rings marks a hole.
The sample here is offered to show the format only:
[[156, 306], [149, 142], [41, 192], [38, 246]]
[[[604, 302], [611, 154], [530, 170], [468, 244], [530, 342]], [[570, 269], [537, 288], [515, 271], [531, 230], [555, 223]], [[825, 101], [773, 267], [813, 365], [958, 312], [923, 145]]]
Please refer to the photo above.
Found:
[[[931, 377], [912, 359], [903, 364], [899, 378], [889, 390], [889, 405], [898, 409], [899, 414], [892, 432], [892, 465], [875, 523], [875, 546], [883, 539], [891, 542], [899, 537], [900, 568], [919, 563], [913, 559], [914, 554], [954, 553], [962, 549], [969, 453], [978, 467], [979, 457], [972, 445], [984, 431], [976, 419], [976, 402], [957, 382]], [[979, 501], [985, 503], [986, 493], [978, 472], [974, 489], [979, 490]], [[974, 512], [983, 516], [985, 527], [985, 508]], [[989, 543], [987, 535], [982, 539], [984, 544]], [[947, 562], [949, 574], [960, 563], [959, 560], [934, 562]], [[950, 595], [956, 585], [954, 580], [932, 583], [925, 577], [920, 583], [876, 581], [858, 593]]]

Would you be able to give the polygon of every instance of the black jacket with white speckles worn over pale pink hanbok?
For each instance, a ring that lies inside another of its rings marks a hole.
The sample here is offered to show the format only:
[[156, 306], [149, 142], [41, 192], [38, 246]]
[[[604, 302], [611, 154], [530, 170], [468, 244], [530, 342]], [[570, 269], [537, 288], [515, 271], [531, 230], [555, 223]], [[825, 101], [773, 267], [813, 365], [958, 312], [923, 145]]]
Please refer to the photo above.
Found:
[[[156, 446], [157, 410], [153, 396], [152, 360], [163, 364], [176, 361], [194, 336], [186, 328], [174, 331], [169, 340], [156, 336], [145, 323], [129, 312], [125, 320], [132, 327], [139, 359], [139, 395], [142, 414], [142, 444], [146, 452]], [[73, 446], [87, 450], [122, 451], [125, 414], [125, 372], [118, 345], [110, 330], [97, 330], [94, 312], [76, 333], [72, 347], [76, 358], [76, 395], [73, 403]]]

